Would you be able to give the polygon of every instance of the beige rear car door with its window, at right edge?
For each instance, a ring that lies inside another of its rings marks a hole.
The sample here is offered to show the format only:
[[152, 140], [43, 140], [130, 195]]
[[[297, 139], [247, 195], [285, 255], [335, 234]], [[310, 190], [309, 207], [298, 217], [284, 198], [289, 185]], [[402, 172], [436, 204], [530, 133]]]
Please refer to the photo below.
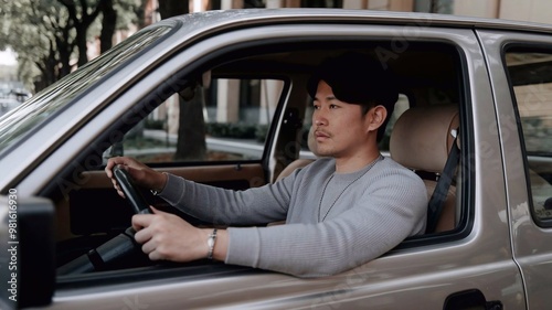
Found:
[[508, 212], [528, 306], [545, 308], [552, 284], [550, 35], [479, 31], [500, 117]]

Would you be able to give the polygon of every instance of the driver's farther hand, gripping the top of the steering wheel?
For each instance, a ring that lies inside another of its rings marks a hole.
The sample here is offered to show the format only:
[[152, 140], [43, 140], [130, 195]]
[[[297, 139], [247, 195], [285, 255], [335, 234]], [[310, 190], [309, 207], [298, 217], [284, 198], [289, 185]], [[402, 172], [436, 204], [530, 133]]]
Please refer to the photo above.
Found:
[[160, 191], [167, 183], [167, 174], [155, 171], [153, 169], [137, 161], [136, 159], [128, 157], [110, 158], [107, 161], [105, 172], [107, 177], [112, 179], [113, 185], [117, 190], [117, 193], [123, 197], [125, 197], [125, 193], [120, 189], [119, 184], [117, 184], [117, 180], [115, 179], [115, 175], [113, 173], [113, 169], [117, 165], [126, 170], [128, 174], [130, 174], [130, 178], [132, 178], [135, 183], [141, 188]]

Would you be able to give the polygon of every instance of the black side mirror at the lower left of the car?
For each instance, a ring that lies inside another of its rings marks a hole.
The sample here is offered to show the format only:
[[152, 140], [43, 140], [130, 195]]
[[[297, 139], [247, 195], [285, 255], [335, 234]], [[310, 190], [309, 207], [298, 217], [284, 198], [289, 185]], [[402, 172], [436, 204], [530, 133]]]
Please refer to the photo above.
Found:
[[[0, 196], [0, 309], [46, 306], [55, 285], [54, 207], [42, 197]], [[4, 288], [6, 287], [6, 288]]]

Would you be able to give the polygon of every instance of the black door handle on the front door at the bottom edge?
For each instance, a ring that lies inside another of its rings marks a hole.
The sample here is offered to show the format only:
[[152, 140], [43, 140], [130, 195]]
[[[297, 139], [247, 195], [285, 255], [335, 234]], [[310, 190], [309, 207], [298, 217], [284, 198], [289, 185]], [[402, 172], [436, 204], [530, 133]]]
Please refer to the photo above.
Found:
[[468, 289], [452, 293], [445, 300], [444, 310], [502, 310], [502, 302], [499, 300], [487, 301], [482, 292], [478, 289]]

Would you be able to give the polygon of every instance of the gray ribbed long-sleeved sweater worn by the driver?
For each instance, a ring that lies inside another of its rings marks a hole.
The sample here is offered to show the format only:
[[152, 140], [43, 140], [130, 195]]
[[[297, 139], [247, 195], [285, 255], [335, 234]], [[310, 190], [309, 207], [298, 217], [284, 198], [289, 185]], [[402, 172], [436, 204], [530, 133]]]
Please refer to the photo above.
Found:
[[[229, 227], [225, 263], [299, 277], [368, 263], [425, 229], [423, 181], [390, 158], [352, 173], [318, 159], [274, 184], [246, 191], [169, 174], [161, 196], [181, 211]], [[255, 227], [286, 220], [285, 225]]]

